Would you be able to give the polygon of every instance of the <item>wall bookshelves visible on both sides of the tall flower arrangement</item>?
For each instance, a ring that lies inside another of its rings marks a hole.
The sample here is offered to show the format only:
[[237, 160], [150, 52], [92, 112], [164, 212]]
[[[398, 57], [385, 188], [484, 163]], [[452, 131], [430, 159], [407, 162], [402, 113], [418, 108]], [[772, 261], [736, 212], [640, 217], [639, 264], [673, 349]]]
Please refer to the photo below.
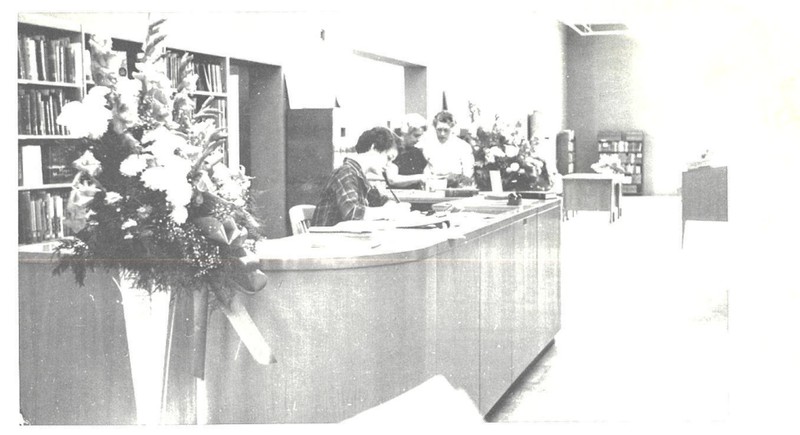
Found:
[[[94, 86], [88, 42], [91, 34], [80, 23], [48, 15], [20, 14], [17, 20], [17, 114], [19, 244], [72, 235], [64, 226], [67, 200], [77, 171], [72, 162], [83, 152], [81, 138], [56, 123], [70, 101], [82, 100]], [[132, 77], [142, 42], [112, 37], [121, 75]], [[181, 77], [176, 65], [191, 54], [199, 76], [194, 93], [197, 108], [209, 99], [218, 110], [218, 127], [229, 127], [225, 56], [167, 49], [167, 73], [173, 85]], [[238, 137], [229, 136], [225, 163], [239, 165]], [[231, 152], [236, 148], [236, 152]]]

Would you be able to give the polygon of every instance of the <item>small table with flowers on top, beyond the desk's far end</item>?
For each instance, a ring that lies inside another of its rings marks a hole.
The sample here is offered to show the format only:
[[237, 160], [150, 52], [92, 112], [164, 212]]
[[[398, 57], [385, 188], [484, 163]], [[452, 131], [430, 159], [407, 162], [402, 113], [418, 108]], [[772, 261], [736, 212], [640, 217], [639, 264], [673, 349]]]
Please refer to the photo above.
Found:
[[609, 222], [622, 216], [622, 177], [606, 174], [568, 174], [564, 181], [564, 218], [577, 210], [607, 211]]

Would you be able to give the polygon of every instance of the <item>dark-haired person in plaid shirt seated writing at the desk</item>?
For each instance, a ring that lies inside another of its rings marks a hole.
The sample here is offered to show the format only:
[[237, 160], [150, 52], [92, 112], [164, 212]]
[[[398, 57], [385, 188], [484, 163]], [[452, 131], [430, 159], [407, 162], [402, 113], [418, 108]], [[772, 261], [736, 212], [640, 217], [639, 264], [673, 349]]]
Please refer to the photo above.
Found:
[[311, 226], [380, 219], [400, 212], [402, 208], [395, 202], [387, 202], [366, 176], [368, 173], [382, 174], [396, 153], [395, 136], [388, 128], [375, 127], [363, 132], [356, 142], [356, 155], [346, 157], [328, 178], [311, 218]]

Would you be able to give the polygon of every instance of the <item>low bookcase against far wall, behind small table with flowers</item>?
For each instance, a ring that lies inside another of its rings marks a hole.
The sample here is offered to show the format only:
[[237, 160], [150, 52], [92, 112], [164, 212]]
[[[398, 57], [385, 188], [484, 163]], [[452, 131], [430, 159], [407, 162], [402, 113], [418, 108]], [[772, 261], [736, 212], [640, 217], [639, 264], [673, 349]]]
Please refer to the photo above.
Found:
[[597, 134], [597, 152], [619, 158], [625, 171], [622, 193], [644, 194], [644, 132], [641, 130], [601, 131]]

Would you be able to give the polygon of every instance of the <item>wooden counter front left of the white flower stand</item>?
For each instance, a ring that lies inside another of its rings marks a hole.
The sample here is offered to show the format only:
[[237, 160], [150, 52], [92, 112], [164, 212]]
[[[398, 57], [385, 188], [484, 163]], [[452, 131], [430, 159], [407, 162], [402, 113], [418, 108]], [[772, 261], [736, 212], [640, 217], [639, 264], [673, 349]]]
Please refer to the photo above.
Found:
[[88, 273], [85, 287], [71, 273], [53, 276], [53, 246], [19, 253], [21, 416], [34, 425], [134, 424], [120, 292], [104, 272]]

